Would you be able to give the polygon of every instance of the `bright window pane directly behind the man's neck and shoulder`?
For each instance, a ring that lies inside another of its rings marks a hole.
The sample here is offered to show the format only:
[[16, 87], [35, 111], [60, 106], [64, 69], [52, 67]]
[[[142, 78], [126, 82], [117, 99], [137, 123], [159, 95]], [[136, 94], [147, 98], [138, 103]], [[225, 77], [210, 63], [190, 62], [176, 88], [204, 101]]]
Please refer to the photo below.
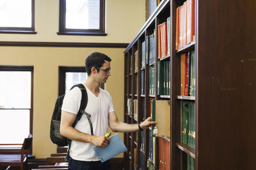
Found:
[[84, 83], [87, 80], [87, 73], [67, 72], [65, 80], [65, 92], [71, 89], [73, 85]]

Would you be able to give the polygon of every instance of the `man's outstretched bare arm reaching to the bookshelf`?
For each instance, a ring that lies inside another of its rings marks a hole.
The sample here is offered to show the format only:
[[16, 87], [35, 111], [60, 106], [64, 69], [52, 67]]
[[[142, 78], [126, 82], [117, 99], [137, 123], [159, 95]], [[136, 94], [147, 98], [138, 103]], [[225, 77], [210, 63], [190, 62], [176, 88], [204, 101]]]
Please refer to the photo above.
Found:
[[[141, 122], [140, 127], [142, 129], [148, 129], [152, 124], [156, 122], [151, 122], [152, 118], [148, 117], [144, 122]], [[119, 122], [115, 111], [112, 111], [108, 115], [108, 124], [113, 132], [136, 132], [140, 131], [138, 124], [125, 124]]]

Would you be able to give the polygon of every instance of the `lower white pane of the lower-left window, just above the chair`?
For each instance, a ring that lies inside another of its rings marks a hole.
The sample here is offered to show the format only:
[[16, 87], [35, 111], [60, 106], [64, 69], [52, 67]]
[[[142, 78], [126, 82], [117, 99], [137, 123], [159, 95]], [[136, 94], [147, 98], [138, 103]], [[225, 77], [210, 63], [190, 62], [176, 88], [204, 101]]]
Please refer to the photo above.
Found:
[[0, 143], [23, 143], [29, 134], [29, 110], [0, 110]]

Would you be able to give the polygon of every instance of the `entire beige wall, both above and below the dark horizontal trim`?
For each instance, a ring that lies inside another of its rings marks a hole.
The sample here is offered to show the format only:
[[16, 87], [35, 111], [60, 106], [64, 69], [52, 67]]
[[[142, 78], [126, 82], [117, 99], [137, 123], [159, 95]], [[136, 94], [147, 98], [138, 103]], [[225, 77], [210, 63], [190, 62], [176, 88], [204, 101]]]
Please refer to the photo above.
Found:
[[[108, 36], [58, 36], [59, 0], [35, 0], [35, 3], [37, 34], [0, 34], [0, 41], [129, 43], [145, 22], [145, 0], [106, 0]], [[37, 159], [56, 152], [56, 145], [49, 138], [49, 125], [58, 97], [58, 66], [84, 66], [84, 58], [95, 51], [109, 55], [111, 77], [106, 90], [113, 98], [119, 120], [123, 121], [124, 50], [0, 46], [0, 65], [34, 66], [33, 155]]]

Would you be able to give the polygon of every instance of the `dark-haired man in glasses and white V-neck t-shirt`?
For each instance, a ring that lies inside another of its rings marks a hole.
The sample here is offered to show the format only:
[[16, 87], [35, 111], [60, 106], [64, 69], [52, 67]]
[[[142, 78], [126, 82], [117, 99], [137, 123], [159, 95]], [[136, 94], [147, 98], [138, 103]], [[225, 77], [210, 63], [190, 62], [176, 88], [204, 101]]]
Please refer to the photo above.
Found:
[[93, 146], [109, 145], [109, 138], [104, 136], [108, 132], [108, 126], [113, 132], [136, 132], [156, 124], [150, 122], [151, 118], [147, 118], [139, 125], [118, 121], [110, 94], [99, 87], [100, 83], [106, 83], [111, 75], [110, 62], [111, 59], [107, 55], [99, 52], [91, 53], [85, 60], [88, 74], [88, 79], [84, 83], [88, 94], [85, 112], [91, 115], [93, 135], [86, 115], [81, 117], [76, 127], [72, 127], [81, 103], [81, 90], [75, 87], [67, 92], [63, 99], [60, 132], [62, 136], [72, 140], [71, 158], [68, 161], [70, 170], [111, 169], [110, 161], [100, 162], [93, 150]]

